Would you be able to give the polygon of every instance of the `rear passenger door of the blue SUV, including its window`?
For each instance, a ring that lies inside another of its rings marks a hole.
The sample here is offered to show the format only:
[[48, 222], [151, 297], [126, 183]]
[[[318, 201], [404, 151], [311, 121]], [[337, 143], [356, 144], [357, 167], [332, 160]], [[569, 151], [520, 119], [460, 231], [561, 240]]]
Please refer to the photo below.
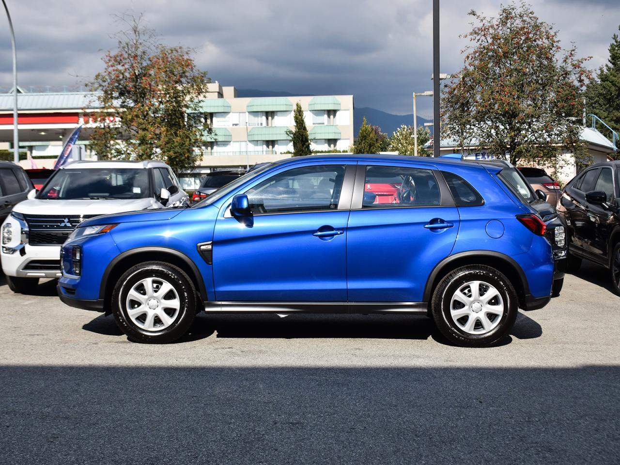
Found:
[[[373, 192], [386, 185], [396, 188], [392, 203], [380, 203]], [[458, 229], [458, 210], [438, 170], [360, 164], [347, 224], [348, 300], [422, 301], [427, 278], [450, 254]]]

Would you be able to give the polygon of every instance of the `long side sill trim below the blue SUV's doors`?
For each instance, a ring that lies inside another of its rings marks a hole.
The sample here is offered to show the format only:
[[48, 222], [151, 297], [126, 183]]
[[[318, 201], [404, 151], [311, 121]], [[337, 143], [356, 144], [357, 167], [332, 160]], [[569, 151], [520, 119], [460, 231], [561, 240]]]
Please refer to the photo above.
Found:
[[426, 302], [205, 302], [221, 313], [403, 313], [427, 314]]

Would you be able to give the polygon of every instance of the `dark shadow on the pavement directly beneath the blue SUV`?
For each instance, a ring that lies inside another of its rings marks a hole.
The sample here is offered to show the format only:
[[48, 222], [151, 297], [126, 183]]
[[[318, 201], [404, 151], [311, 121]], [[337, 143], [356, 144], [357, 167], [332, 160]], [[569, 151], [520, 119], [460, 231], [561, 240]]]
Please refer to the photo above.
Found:
[[[112, 316], [100, 314], [82, 329], [106, 336], [123, 333]], [[432, 338], [451, 345], [427, 317], [410, 315], [294, 314], [281, 318], [274, 314], [198, 314], [188, 334], [176, 343], [192, 342], [216, 334], [231, 339], [417, 339]], [[510, 335], [496, 343], [506, 345], [516, 339], [542, 335], [536, 321], [519, 313]]]

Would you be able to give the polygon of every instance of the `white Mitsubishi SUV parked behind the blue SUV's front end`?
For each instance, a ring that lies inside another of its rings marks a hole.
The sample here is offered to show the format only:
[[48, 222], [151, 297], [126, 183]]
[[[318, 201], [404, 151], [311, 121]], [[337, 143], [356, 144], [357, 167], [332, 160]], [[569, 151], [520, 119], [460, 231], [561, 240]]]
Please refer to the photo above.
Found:
[[56, 170], [2, 224], [2, 270], [9, 288], [28, 292], [39, 278], [60, 277], [60, 246], [84, 219], [105, 213], [188, 204], [162, 162], [73, 162]]

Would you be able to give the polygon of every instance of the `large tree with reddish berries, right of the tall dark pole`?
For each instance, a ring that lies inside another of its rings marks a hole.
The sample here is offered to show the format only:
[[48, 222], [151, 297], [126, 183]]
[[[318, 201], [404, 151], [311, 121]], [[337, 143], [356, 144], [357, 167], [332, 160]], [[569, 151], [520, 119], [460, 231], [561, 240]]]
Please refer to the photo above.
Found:
[[477, 20], [459, 79], [443, 89], [441, 135], [464, 148], [476, 142], [495, 156], [554, 162], [559, 148], [582, 147], [587, 58], [562, 51], [557, 31], [524, 2], [502, 6], [497, 18]]

